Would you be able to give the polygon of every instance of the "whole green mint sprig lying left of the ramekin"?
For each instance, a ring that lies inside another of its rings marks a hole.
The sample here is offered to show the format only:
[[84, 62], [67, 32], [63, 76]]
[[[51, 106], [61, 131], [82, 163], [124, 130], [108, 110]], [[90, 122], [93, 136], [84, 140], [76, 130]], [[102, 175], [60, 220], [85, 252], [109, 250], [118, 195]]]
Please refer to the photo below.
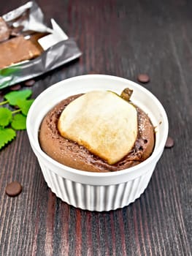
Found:
[[26, 129], [26, 116], [34, 102], [34, 99], [28, 99], [31, 94], [31, 90], [11, 91], [0, 102], [0, 105], [8, 105], [0, 108], [0, 149], [16, 137], [16, 130]]

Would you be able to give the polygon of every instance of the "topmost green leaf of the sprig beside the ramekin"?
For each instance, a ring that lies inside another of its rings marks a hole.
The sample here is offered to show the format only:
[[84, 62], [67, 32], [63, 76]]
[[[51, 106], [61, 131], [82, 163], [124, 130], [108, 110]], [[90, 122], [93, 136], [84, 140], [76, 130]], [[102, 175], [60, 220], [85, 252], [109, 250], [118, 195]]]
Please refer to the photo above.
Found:
[[4, 95], [4, 98], [8, 100], [9, 105], [17, 105], [18, 100], [28, 99], [32, 94], [31, 90], [22, 90], [22, 91], [11, 91], [8, 94]]

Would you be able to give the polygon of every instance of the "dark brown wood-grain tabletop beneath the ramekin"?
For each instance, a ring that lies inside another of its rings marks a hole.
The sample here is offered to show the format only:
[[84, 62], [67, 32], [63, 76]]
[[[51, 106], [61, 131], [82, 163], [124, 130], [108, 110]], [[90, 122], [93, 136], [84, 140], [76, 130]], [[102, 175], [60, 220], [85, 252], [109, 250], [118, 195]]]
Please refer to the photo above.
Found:
[[[25, 3], [1, 1], [1, 14]], [[39, 0], [73, 37], [82, 56], [36, 79], [33, 97], [75, 75], [137, 81], [169, 117], [167, 148], [144, 194], [128, 207], [90, 212], [68, 206], [47, 187], [26, 131], [0, 151], [0, 255], [191, 255], [192, 1]], [[23, 192], [5, 187], [20, 181]]]

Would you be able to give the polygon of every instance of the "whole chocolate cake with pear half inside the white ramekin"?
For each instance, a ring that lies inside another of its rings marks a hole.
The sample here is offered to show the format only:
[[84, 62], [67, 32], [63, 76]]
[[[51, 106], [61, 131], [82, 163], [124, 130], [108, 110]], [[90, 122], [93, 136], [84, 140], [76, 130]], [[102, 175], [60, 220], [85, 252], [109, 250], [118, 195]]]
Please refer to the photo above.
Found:
[[[59, 102], [39, 128], [43, 151], [78, 170], [111, 172], [143, 162], [155, 133], [147, 114], [131, 102], [132, 91], [90, 91]], [[126, 98], [126, 100], [124, 98]]]

